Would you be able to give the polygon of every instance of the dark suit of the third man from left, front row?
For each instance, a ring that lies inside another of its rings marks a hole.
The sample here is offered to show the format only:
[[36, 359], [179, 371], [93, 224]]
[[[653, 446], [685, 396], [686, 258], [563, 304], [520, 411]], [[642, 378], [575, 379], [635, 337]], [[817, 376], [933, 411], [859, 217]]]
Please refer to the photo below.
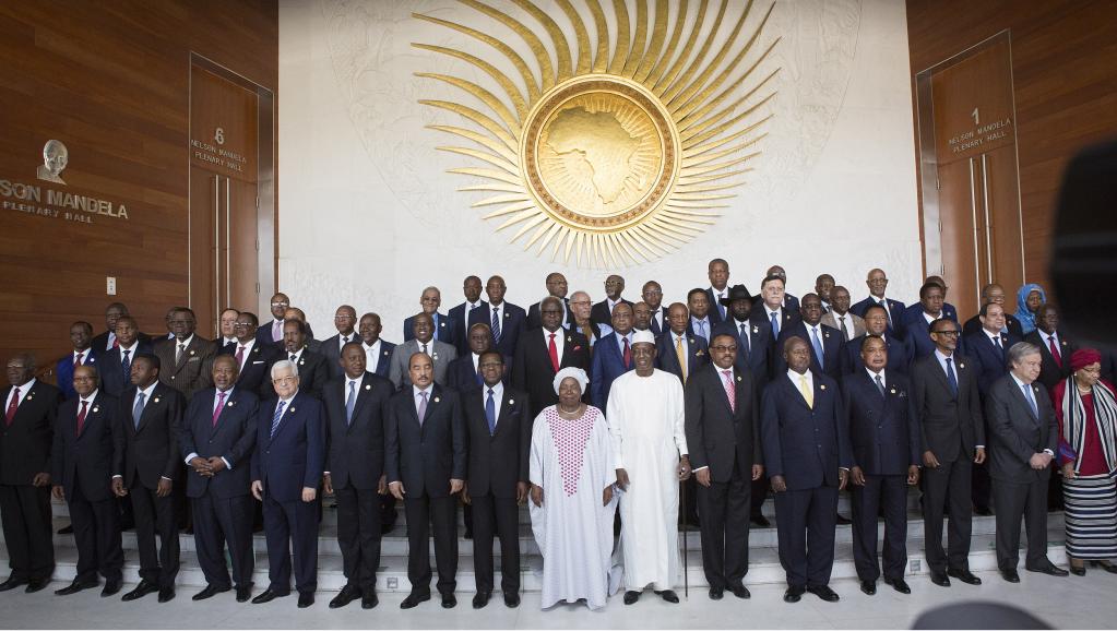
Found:
[[[114, 436], [114, 476], [123, 476], [132, 499], [140, 548], [140, 576], [161, 589], [174, 587], [179, 574], [179, 526], [174, 514], [174, 486], [182, 484], [179, 433], [185, 401], [178, 390], [156, 383], [144, 401], [139, 422], [133, 415], [136, 386], [124, 391], [117, 408]], [[172, 493], [159, 497], [162, 478]], [[159, 535], [159, 553], [155, 535]]]

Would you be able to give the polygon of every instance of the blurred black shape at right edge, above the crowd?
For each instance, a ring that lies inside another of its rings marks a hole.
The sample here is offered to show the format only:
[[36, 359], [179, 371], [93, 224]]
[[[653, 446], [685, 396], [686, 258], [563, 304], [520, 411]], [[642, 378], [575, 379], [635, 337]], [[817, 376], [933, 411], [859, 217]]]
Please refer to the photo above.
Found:
[[1060, 327], [1079, 346], [1117, 352], [1117, 142], [1082, 150], [1063, 173], [1050, 278]]

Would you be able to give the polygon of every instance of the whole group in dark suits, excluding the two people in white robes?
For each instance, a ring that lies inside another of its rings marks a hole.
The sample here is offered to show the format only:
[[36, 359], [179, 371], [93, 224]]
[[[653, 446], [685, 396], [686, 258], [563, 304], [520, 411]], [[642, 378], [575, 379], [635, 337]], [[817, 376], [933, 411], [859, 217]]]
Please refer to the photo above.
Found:
[[[78, 546], [77, 575], [59, 594], [98, 585], [98, 575], [103, 595], [122, 589], [128, 508], [142, 581], [124, 600], [174, 597], [180, 520], [189, 514], [207, 580], [194, 600], [236, 589], [238, 601], [269, 602], [290, 593], [294, 574], [298, 605], [309, 606], [326, 495], [336, 501], [346, 577], [331, 608], [376, 606], [381, 537], [398, 501], [410, 546], [404, 609], [431, 597], [429, 535], [441, 604], [455, 606], [459, 503], [474, 538], [472, 605], [484, 608], [496, 589], [498, 537], [499, 589], [516, 606], [533, 419], [558, 401], [553, 382], [564, 369], [585, 371], [583, 401], [605, 410], [613, 381], [634, 369], [633, 335], [645, 331], [656, 341], [655, 367], [685, 390], [694, 476], [684, 484], [694, 493], [682, 518], [700, 527], [710, 597], [726, 590], [748, 597], [750, 524], [767, 525], [761, 506], [770, 494], [789, 602], [806, 592], [838, 600], [828, 584], [842, 490], [851, 493], [853, 552], [868, 594], [881, 575], [910, 592], [907, 496], [916, 485], [935, 584], [981, 582], [967, 563], [971, 515], [991, 506], [1006, 580], [1019, 580], [1022, 517], [1025, 567], [1066, 574], [1044, 552], [1048, 480], [1060, 449], [1048, 390], [1068, 379], [1075, 347], [1041, 289], [1025, 286], [1027, 315], [1013, 317], [1004, 290], [990, 285], [963, 327], [938, 277], [906, 306], [887, 295], [880, 269], [867, 276], [868, 297], [852, 305], [849, 289], [825, 274], [801, 297], [786, 293], [779, 266], [757, 295], [729, 284], [724, 259], [712, 260], [707, 275], [708, 287], [665, 305], [655, 280], [633, 303], [623, 297], [624, 279], [611, 275], [605, 298], [592, 303], [586, 291], [567, 295], [566, 279], [553, 273], [546, 297], [527, 309], [505, 300], [502, 277], [483, 286], [469, 276], [465, 302], [448, 315], [440, 290], [424, 288], [400, 344], [381, 338], [378, 314], [357, 318], [349, 305], [335, 312], [336, 334], [318, 341], [281, 293], [268, 322], [227, 309], [214, 341], [195, 332], [188, 307], [170, 309], [165, 334], [145, 335], [123, 304], [109, 305], [102, 334], [86, 322], [70, 327], [58, 388], [36, 379], [31, 355], [8, 362], [0, 513], [12, 572], [0, 591], [49, 582], [52, 493], [69, 506]], [[252, 597], [260, 519], [269, 584]]]

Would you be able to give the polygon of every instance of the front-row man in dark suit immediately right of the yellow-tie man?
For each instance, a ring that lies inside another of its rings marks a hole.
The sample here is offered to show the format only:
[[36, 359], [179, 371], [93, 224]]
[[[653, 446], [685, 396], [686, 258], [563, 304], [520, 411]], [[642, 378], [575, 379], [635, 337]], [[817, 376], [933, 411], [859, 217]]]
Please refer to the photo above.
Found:
[[919, 484], [923, 434], [907, 377], [887, 371], [888, 346], [880, 337], [861, 341], [865, 369], [841, 383], [842, 422], [853, 450], [853, 563], [861, 591], [877, 593], [877, 515], [885, 515], [885, 584], [901, 594], [907, 567], [907, 494]]

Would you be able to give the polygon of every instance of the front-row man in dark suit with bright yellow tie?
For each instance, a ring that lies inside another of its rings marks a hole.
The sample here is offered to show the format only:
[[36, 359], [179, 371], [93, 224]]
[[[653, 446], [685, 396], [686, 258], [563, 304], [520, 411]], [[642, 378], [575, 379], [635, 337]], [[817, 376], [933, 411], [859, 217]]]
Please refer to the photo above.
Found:
[[[775, 493], [780, 563], [787, 573], [785, 602], [811, 592], [827, 602], [834, 562], [838, 491], [852, 465], [838, 382], [810, 370], [811, 346], [799, 336], [783, 344], [787, 372], [764, 389], [761, 436]], [[814, 444], [812, 449], [810, 446]]]

